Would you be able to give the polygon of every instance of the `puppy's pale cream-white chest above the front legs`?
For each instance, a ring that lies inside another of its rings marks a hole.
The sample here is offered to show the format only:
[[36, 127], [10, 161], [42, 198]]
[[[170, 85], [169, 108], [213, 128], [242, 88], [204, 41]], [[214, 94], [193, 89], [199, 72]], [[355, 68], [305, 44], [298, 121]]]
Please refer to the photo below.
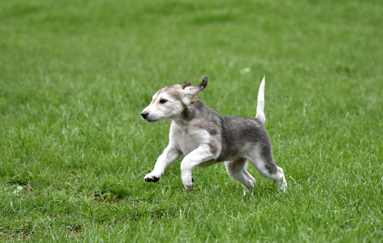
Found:
[[170, 141], [177, 144], [183, 154], [187, 155], [197, 149], [201, 144], [209, 143], [210, 135], [204, 129], [190, 129], [186, 126], [172, 126]]

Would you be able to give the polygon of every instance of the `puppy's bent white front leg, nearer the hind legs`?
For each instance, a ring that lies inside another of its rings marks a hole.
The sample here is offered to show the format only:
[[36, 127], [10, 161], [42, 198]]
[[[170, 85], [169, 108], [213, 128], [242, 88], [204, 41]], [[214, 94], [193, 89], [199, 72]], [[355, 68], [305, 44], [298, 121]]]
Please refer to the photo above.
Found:
[[204, 161], [216, 159], [207, 144], [200, 145], [197, 149], [186, 155], [181, 162], [181, 179], [187, 191], [193, 190], [193, 169]]

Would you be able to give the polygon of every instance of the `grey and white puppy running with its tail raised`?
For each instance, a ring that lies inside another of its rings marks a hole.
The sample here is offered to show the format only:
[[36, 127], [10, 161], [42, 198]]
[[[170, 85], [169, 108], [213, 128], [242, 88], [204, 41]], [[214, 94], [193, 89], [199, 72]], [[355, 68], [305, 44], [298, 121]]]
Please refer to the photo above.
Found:
[[142, 119], [157, 122], [171, 119], [169, 145], [158, 157], [147, 182], [157, 182], [167, 166], [182, 154], [181, 179], [187, 191], [193, 190], [193, 169], [224, 162], [227, 173], [251, 192], [255, 179], [246, 170], [247, 160], [264, 177], [275, 180], [285, 191], [283, 170], [273, 159], [270, 138], [265, 129], [265, 77], [258, 91], [255, 118], [221, 116], [198, 99], [207, 86], [207, 77], [197, 86], [187, 81], [160, 89], [143, 109]]

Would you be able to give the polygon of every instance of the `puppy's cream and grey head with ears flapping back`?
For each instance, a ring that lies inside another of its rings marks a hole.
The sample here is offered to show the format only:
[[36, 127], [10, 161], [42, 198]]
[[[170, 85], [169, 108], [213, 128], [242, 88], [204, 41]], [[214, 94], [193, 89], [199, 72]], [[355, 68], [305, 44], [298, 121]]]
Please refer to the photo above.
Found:
[[207, 77], [197, 86], [187, 81], [181, 85], [165, 87], [153, 95], [152, 102], [143, 109], [141, 116], [148, 122], [181, 118], [182, 112], [198, 100], [201, 90], [207, 86]]

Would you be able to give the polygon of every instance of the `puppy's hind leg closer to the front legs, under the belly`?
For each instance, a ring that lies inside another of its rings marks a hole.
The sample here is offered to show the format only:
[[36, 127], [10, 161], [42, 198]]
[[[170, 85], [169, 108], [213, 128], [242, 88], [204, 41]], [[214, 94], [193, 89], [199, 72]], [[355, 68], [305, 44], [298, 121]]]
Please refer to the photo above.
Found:
[[246, 158], [240, 158], [234, 161], [225, 161], [225, 166], [227, 174], [241, 182], [246, 191], [250, 192], [254, 188], [255, 179], [246, 170], [246, 160]]

